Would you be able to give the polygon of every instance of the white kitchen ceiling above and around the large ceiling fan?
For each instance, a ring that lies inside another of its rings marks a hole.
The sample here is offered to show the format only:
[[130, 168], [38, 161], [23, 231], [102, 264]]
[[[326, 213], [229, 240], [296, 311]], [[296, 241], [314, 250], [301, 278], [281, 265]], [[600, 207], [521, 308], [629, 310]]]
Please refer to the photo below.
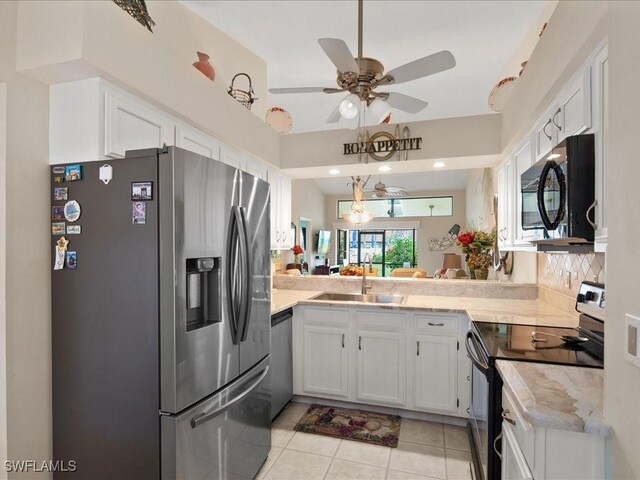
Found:
[[[357, 54], [355, 0], [183, 3], [264, 58], [269, 88], [335, 86], [335, 67], [320, 49], [318, 38], [342, 38]], [[429, 102], [415, 115], [394, 110], [392, 122], [488, 113], [491, 88], [547, 3], [365, 1], [363, 54], [380, 60], [387, 71], [445, 49], [457, 62], [447, 72], [381, 87], [381, 91]], [[325, 123], [338, 99], [324, 93], [269, 94], [268, 103], [291, 113], [292, 132], [306, 132], [340, 128]]]

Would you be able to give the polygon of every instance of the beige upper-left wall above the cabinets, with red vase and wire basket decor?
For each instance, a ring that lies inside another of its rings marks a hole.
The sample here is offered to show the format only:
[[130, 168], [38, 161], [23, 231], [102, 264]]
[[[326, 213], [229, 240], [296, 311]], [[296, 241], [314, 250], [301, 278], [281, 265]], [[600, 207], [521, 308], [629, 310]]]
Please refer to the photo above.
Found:
[[[148, 32], [110, 1], [20, 2], [17, 69], [60, 83], [102, 77], [224, 143], [279, 166], [280, 136], [264, 122], [266, 63], [175, 1], [149, 2]], [[208, 52], [211, 82], [192, 63]], [[251, 111], [227, 94], [235, 73], [253, 79]]]

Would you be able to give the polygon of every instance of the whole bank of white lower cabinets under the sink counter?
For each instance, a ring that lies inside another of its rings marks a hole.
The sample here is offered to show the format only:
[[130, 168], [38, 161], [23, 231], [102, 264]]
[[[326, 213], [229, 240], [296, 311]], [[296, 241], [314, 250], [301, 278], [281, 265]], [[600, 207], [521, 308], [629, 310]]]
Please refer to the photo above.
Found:
[[293, 324], [295, 394], [467, 416], [466, 315], [299, 305]]

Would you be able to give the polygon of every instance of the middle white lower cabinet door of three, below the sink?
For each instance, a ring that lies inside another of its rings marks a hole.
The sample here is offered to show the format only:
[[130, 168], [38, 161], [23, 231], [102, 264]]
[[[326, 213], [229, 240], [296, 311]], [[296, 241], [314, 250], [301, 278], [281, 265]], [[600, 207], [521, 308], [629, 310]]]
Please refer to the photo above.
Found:
[[405, 404], [405, 338], [404, 333], [358, 332], [358, 401]]

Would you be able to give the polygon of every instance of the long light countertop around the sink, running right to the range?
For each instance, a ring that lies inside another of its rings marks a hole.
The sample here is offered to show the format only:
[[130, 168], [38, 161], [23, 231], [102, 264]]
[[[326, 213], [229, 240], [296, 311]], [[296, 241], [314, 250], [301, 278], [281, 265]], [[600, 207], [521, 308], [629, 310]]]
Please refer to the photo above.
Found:
[[576, 327], [578, 317], [541, 302], [540, 300], [489, 299], [473, 297], [445, 297], [428, 295], [406, 295], [403, 304], [379, 304], [344, 302], [337, 300], [314, 300], [320, 292], [278, 290], [278, 292], [309, 293], [307, 298], [297, 303], [328, 306], [358, 306], [385, 310], [420, 310], [425, 312], [466, 313], [473, 321], [493, 323], [513, 323], [522, 325], [548, 325]]

